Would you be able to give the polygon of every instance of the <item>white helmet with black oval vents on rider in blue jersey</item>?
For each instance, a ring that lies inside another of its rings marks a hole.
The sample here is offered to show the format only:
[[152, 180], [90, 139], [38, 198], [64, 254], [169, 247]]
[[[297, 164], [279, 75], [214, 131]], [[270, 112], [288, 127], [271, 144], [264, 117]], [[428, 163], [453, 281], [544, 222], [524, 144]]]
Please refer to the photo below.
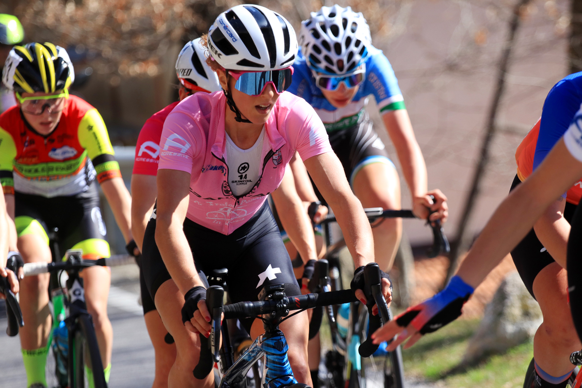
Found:
[[312, 70], [347, 74], [364, 62], [372, 37], [361, 12], [336, 4], [311, 12], [310, 19], [301, 22], [299, 44]]

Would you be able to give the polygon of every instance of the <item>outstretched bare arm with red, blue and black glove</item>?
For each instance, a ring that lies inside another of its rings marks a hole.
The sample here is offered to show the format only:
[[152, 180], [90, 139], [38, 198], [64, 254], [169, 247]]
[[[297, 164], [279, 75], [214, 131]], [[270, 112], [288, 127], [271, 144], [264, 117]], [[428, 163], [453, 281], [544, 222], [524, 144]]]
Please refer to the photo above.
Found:
[[542, 213], [582, 176], [582, 162], [570, 154], [562, 140], [544, 162], [499, 205], [467, 254], [457, 276], [445, 290], [409, 308], [394, 321], [372, 334], [374, 343], [391, 339], [393, 350], [406, 340], [412, 346], [424, 333], [430, 333], [461, 314], [463, 303], [485, 276], [501, 262], [528, 233]]

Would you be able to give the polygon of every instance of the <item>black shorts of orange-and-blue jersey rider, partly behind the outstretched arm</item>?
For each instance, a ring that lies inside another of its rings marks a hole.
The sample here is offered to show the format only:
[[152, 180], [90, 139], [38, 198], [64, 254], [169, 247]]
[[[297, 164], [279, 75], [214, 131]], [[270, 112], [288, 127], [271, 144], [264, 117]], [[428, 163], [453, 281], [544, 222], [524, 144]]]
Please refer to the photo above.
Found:
[[[516, 188], [520, 183], [521, 181], [516, 175], [509, 191], [511, 192], [511, 190]], [[574, 210], [576, 210], [576, 205], [566, 202], [564, 218], [567, 222], [572, 220]], [[523, 280], [523, 284], [526, 285], [531, 296], [535, 298], [533, 290], [535, 277], [538, 276], [538, 273], [540, 273], [546, 265], [554, 262], [552, 255], [549, 254], [546, 248], [544, 248], [544, 245], [542, 245], [540, 240], [538, 240], [538, 237], [535, 235], [534, 229], [532, 228], [527, 236], [517, 244], [517, 247], [511, 251], [511, 256], [517, 268], [517, 272], [519, 272], [519, 276], [521, 276], [521, 280]]]

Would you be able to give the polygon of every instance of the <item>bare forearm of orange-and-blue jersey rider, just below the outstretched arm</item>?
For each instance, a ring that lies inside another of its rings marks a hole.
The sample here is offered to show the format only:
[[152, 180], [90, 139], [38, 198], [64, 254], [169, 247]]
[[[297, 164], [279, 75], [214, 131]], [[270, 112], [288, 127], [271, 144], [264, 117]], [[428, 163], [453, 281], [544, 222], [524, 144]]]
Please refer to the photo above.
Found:
[[562, 197], [550, 205], [535, 222], [535, 234], [552, 258], [566, 268], [566, 252], [570, 223], [564, 218], [566, 200]]

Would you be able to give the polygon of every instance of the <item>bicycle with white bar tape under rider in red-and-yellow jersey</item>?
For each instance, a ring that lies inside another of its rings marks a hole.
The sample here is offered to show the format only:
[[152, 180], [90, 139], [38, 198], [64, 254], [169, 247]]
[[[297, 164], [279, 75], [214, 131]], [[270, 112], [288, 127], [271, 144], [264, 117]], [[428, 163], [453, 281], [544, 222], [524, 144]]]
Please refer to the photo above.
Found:
[[[55, 275], [58, 287], [51, 287], [53, 304], [53, 328], [66, 327], [67, 347], [52, 346], [55, 358], [55, 376], [58, 388], [85, 388], [89, 386], [89, 376], [86, 376], [85, 366], [93, 376], [94, 388], [107, 388], [101, 354], [97, 344], [97, 336], [93, 327], [93, 319], [87, 312], [83, 279], [79, 272], [94, 265], [119, 265], [125, 255], [97, 260], [85, 260], [80, 250], [68, 250], [65, 261], [41, 262], [24, 264], [24, 276], [51, 273]], [[65, 287], [61, 287], [60, 278], [66, 272]], [[51, 282], [52, 283], [52, 282]], [[60, 304], [60, 305], [59, 305]], [[48, 377], [48, 376], [47, 376]]]

